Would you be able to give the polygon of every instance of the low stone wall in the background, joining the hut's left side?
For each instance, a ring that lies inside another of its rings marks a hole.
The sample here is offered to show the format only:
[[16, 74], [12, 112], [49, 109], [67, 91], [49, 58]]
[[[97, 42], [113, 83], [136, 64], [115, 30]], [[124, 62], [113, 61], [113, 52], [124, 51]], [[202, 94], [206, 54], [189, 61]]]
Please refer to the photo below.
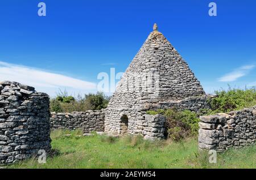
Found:
[[51, 129], [82, 130], [84, 133], [104, 131], [104, 110], [51, 113]]

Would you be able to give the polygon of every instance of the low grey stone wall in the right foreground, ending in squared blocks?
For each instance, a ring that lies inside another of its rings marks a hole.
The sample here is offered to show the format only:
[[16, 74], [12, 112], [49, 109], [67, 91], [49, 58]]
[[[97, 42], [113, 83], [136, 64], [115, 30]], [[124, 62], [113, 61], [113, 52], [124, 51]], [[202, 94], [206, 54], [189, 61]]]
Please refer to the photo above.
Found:
[[199, 149], [244, 147], [256, 142], [256, 106], [230, 113], [200, 117]]

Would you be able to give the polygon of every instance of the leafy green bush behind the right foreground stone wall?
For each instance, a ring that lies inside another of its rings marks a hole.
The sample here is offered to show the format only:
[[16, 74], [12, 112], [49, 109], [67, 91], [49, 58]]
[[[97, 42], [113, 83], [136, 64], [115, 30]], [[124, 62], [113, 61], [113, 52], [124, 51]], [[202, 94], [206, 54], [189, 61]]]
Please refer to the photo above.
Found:
[[256, 90], [231, 89], [216, 91], [216, 97], [210, 100], [210, 105], [215, 113], [229, 112], [256, 105]]

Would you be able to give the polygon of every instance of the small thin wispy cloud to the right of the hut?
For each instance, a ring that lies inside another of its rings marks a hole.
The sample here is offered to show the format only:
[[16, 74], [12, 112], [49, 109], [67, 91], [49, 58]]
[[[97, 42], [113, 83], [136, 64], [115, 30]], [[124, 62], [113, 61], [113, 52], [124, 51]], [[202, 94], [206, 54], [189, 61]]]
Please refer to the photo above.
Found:
[[236, 70], [230, 72], [229, 74], [226, 74], [218, 79], [219, 82], [234, 82], [238, 78], [242, 78], [243, 76], [247, 75], [255, 65], [246, 65], [242, 66], [240, 68], [237, 68]]

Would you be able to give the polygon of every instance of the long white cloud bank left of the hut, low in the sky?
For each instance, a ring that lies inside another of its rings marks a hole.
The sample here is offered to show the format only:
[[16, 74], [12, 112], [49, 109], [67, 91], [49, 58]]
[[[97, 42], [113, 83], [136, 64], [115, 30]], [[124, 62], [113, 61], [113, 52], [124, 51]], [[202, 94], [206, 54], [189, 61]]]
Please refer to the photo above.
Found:
[[49, 93], [51, 96], [54, 96], [58, 89], [69, 89], [71, 93], [89, 92], [96, 89], [96, 84], [91, 82], [0, 61], [0, 81], [3, 80], [31, 85], [36, 90]]

